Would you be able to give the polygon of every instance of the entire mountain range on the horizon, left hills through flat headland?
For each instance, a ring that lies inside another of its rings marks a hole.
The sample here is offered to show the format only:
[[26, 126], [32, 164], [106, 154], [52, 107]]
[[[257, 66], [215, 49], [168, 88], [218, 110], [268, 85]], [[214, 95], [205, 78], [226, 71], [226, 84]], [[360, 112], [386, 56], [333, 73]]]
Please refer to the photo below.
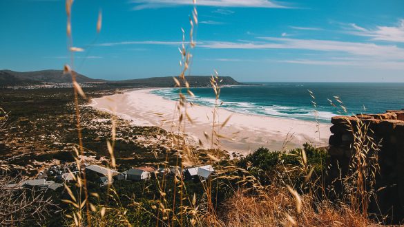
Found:
[[[78, 83], [100, 83], [111, 87], [174, 87], [172, 76], [152, 77], [133, 80], [99, 80], [76, 73]], [[211, 76], [186, 76], [191, 87], [210, 87]], [[230, 76], [221, 76], [221, 85], [241, 85]], [[71, 83], [70, 75], [63, 74], [62, 70], [41, 70], [34, 72], [15, 72], [0, 70], [0, 87], [39, 85], [42, 83]]]

